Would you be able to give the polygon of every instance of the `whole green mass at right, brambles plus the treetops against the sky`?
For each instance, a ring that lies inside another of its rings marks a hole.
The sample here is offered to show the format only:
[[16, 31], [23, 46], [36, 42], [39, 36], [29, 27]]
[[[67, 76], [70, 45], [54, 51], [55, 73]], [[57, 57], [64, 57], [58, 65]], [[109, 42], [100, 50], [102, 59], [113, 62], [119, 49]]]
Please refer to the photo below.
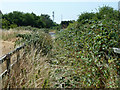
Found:
[[119, 31], [118, 12], [111, 7], [81, 14], [77, 22], [56, 35], [51, 86], [117, 88], [120, 55], [112, 48], [120, 48]]

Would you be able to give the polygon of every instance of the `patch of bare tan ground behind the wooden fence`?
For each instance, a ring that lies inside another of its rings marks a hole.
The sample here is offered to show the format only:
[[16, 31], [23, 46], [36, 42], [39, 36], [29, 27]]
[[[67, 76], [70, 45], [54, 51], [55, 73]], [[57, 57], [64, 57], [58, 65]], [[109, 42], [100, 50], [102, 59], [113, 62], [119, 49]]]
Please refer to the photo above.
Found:
[[14, 50], [14, 42], [0, 40], [0, 57]]

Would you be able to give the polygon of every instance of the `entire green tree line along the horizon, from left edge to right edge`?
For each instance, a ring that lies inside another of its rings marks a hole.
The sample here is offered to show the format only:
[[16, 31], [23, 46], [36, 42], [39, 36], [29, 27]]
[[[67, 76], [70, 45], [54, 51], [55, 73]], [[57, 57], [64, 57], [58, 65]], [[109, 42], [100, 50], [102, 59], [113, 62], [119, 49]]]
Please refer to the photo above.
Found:
[[[79, 24], [85, 24], [88, 20], [102, 20], [106, 19], [110, 20], [117, 20], [120, 21], [120, 13], [118, 10], [114, 10], [112, 7], [103, 6], [98, 9], [98, 12], [85, 12], [79, 15], [77, 22]], [[76, 21], [62, 21], [60, 24], [56, 24], [53, 22], [49, 15], [41, 14], [40, 16], [36, 15], [35, 13], [24, 13], [20, 11], [13, 11], [7, 14], [2, 14], [0, 11], [0, 21], [2, 21], [2, 28], [9, 29], [15, 28], [19, 26], [31, 26], [36, 28], [67, 28], [70, 23], [74, 23]], [[54, 27], [55, 26], [55, 27]]]

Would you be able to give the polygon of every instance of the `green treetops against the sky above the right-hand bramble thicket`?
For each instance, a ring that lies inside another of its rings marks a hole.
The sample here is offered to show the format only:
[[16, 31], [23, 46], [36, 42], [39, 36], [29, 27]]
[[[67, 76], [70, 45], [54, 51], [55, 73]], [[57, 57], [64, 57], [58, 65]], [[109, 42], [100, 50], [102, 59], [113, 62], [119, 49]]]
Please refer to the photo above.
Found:
[[98, 8], [98, 12], [85, 12], [79, 15], [78, 22], [81, 24], [85, 24], [87, 20], [120, 20], [120, 15], [118, 10], [114, 10], [114, 8], [110, 6], [103, 6]]

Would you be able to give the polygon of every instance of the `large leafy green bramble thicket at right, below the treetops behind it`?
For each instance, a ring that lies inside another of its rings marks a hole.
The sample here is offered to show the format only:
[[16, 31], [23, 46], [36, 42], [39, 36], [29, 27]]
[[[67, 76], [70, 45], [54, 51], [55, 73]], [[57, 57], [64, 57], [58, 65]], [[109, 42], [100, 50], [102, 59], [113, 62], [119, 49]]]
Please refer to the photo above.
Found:
[[[60, 32], [55, 42], [55, 55], [58, 62], [61, 62], [59, 65], [69, 67], [65, 71], [67, 76], [61, 76], [70, 78], [69, 85], [65, 87], [118, 87], [120, 57], [112, 48], [120, 48], [119, 44], [120, 32], [116, 20], [88, 20], [82, 26]], [[65, 57], [64, 60], [61, 57]], [[74, 81], [68, 74], [79, 77], [80, 80]], [[66, 80], [60, 80], [58, 87], [61, 82], [65, 83]]]

